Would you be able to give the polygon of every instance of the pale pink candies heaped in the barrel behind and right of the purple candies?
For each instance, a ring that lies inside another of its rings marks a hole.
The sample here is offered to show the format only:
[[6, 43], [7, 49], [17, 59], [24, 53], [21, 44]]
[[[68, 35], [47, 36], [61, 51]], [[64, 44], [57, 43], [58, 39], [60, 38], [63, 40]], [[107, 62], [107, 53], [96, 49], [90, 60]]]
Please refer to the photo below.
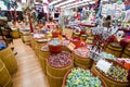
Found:
[[87, 47], [81, 47], [81, 48], [75, 49], [74, 52], [80, 57], [87, 58], [89, 49]]

